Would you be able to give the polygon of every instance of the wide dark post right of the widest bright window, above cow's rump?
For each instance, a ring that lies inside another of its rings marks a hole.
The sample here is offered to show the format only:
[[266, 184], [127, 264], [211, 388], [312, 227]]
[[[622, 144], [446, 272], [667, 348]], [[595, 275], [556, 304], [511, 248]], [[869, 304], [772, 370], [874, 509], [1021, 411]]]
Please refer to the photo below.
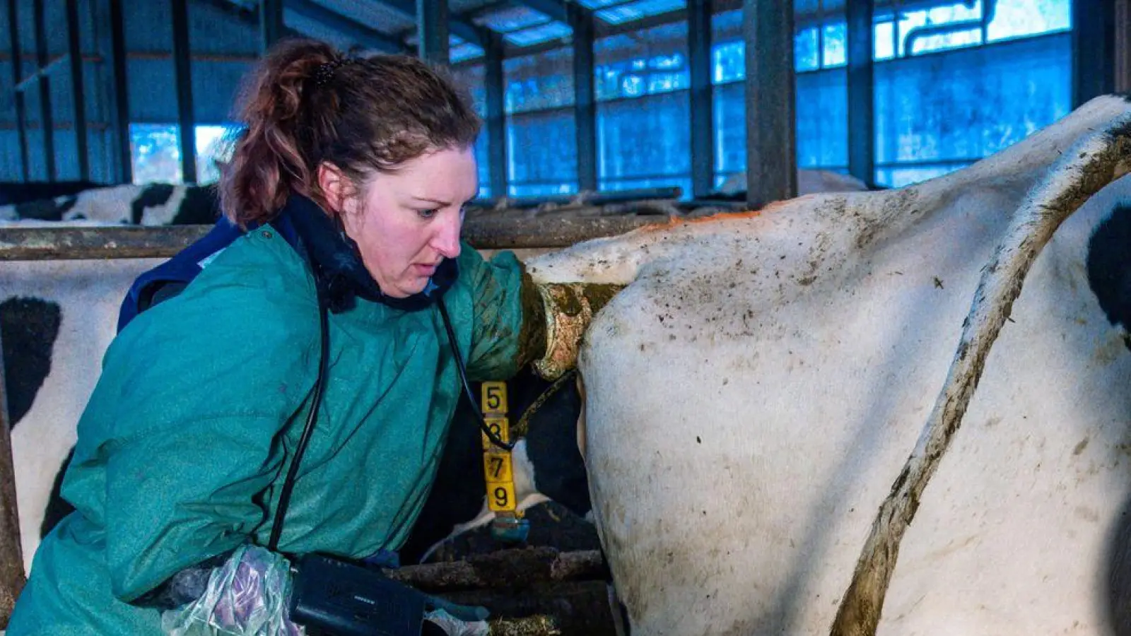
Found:
[[1115, 3], [1072, 2], [1072, 108], [1115, 89]]

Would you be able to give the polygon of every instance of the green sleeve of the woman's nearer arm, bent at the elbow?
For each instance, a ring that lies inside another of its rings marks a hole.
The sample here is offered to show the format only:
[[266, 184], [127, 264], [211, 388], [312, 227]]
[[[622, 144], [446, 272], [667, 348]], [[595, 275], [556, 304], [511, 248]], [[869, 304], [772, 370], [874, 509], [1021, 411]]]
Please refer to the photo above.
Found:
[[[283, 466], [280, 431], [313, 385], [313, 302], [192, 290], [123, 332], [88, 407], [102, 415], [79, 430], [76, 462], [103, 467], [106, 559], [124, 601], [269, 524], [260, 498]], [[89, 487], [78, 479], [75, 496]]]

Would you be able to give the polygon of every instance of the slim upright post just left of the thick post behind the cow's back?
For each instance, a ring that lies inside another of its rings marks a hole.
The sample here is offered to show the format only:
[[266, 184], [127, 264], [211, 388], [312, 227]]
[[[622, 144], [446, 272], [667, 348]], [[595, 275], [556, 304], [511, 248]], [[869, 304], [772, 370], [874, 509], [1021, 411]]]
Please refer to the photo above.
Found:
[[691, 67], [691, 191], [715, 189], [715, 132], [711, 112], [711, 0], [688, 0], [688, 61]]

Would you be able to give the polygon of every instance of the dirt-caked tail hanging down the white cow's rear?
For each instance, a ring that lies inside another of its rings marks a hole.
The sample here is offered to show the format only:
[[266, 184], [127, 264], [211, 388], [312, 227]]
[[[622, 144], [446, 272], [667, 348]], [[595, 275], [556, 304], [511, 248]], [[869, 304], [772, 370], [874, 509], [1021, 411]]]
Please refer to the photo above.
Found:
[[1131, 115], [1124, 114], [1063, 154], [1013, 216], [982, 281], [950, 372], [915, 450], [880, 506], [840, 601], [834, 636], [874, 635], [899, 542], [927, 481], [947, 452], [977, 387], [990, 347], [1009, 318], [1033, 261], [1060, 224], [1104, 186], [1131, 170]]

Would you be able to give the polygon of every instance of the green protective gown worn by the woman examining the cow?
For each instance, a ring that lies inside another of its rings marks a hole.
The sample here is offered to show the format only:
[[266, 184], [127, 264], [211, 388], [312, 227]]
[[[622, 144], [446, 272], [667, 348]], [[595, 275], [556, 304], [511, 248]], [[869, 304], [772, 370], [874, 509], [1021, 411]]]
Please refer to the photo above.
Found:
[[[470, 379], [509, 378], [518, 260], [464, 246], [444, 294]], [[270, 533], [319, 356], [314, 284], [270, 227], [236, 240], [185, 291], [111, 344], [63, 482], [77, 512], [44, 539], [8, 636], [161, 634], [129, 604], [181, 569]], [[329, 378], [279, 550], [397, 549], [424, 505], [459, 380], [434, 307], [357, 299], [331, 313]]]

